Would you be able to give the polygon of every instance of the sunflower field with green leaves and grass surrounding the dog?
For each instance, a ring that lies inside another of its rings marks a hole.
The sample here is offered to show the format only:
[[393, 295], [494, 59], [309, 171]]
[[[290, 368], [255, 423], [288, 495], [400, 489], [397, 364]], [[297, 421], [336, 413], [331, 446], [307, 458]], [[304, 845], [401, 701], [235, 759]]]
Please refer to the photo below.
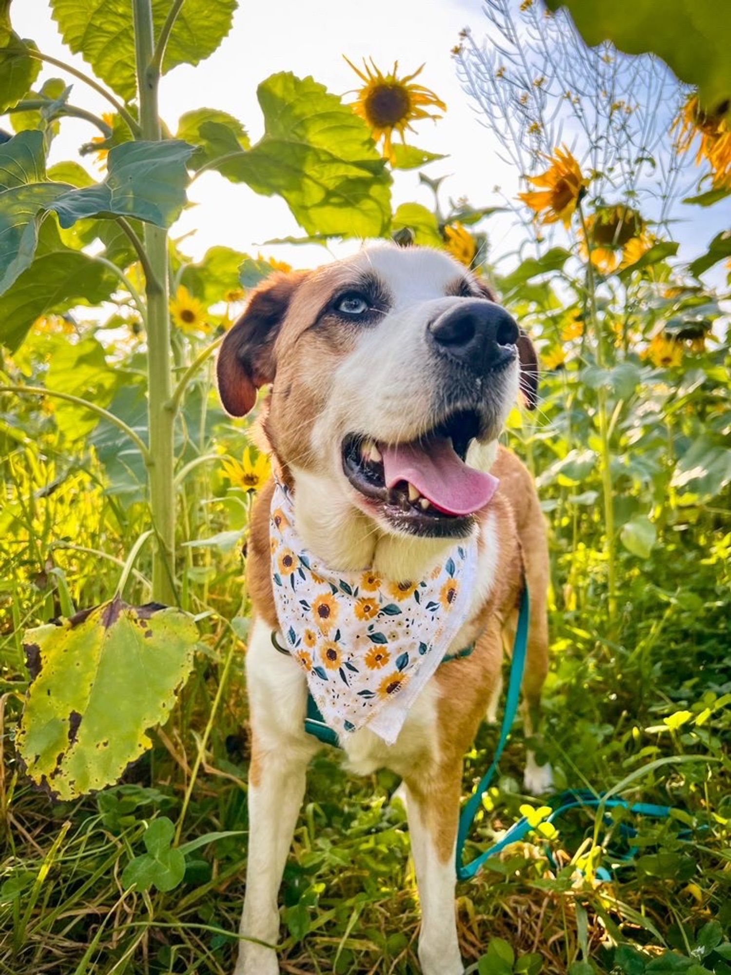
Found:
[[[344, 97], [264, 78], [254, 143], [250, 120], [215, 109], [160, 119], [161, 72], [211, 55], [235, 6], [51, 0], [80, 72], [19, 38], [0, 0], [0, 971], [233, 965], [244, 567], [269, 465], [220, 408], [212, 363], [250, 289], [287, 265], [275, 243], [186, 255], [174, 221], [214, 171], [282, 197], [294, 239], [446, 249], [539, 349], [539, 409], [515, 409], [505, 438], [550, 526], [539, 759], [557, 792], [673, 815], [548, 824], [521, 792], [516, 727], [473, 839], [525, 813], [533, 832], [458, 887], [467, 970], [729, 975], [731, 230], [704, 228], [731, 223], [731, 25], [712, 0], [695, 32], [679, 3], [671, 17], [618, 2], [599, 24], [569, 0], [574, 26], [490, 0], [454, 39], [454, 68], [523, 178], [518, 197], [485, 186], [482, 206], [411, 144], [448, 111], [428, 66], [354, 63]], [[641, 55], [652, 38], [682, 81]], [[47, 165], [67, 118], [88, 141]], [[408, 170], [433, 206], [394, 205]], [[520, 231], [508, 254], [493, 246], [505, 221]], [[704, 243], [681, 259], [687, 223]], [[483, 725], [465, 795], [496, 739]], [[398, 784], [349, 777], [329, 752], [313, 762], [281, 895], [284, 972], [418, 970]]]

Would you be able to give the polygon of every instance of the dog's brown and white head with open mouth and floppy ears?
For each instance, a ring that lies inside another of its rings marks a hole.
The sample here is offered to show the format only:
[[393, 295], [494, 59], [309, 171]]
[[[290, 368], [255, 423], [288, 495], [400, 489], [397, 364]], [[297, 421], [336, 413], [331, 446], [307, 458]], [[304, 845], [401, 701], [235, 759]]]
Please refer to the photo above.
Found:
[[537, 362], [462, 265], [378, 246], [253, 292], [218, 357], [224, 407], [244, 415], [267, 383], [264, 429], [305, 541], [363, 567], [379, 542], [471, 532], [519, 389], [535, 405]]

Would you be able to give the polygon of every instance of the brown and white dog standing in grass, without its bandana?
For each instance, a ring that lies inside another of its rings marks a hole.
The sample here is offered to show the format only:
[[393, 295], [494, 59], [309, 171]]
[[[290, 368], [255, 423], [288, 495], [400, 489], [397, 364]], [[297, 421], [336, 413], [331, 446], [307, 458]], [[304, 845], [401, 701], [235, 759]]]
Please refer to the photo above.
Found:
[[[536, 380], [530, 341], [481, 282], [446, 254], [389, 245], [269, 278], [218, 359], [221, 401], [235, 416], [254, 406], [258, 387], [271, 384], [263, 434], [292, 491], [296, 530], [323, 563], [418, 578], [456, 539], [478, 536], [471, 609], [448, 649], [475, 641], [475, 651], [436, 671], [394, 745], [367, 727], [343, 743], [353, 771], [387, 766], [404, 779], [424, 975], [463, 971], [454, 909], [462, 758], [500, 689], [503, 637], [515, 626], [523, 573], [531, 598], [523, 681], [529, 730], [548, 667], [543, 516], [528, 472], [498, 446], [519, 389], [535, 405]], [[439, 443], [447, 451], [442, 479], [455, 489], [474, 477], [469, 466], [498, 477], [497, 492], [482, 510], [450, 514], [428, 498], [411, 500], [416, 491], [406, 484], [389, 490], [379, 461], [406, 442], [424, 451]], [[256, 500], [249, 544], [250, 837], [240, 930], [253, 940], [241, 942], [236, 975], [279, 971], [275, 951], [257, 942], [277, 942], [278, 890], [305, 771], [322, 747], [304, 730], [303, 671], [271, 642], [279, 629], [269, 544], [273, 487]], [[528, 792], [544, 791], [550, 778], [550, 768], [528, 755]]]

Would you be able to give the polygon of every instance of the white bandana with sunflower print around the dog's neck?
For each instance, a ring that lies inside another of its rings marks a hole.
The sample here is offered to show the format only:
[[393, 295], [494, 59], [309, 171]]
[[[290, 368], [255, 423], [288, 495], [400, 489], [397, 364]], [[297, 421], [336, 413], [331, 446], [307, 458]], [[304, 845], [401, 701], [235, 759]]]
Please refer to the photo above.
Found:
[[341, 739], [367, 725], [392, 745], [467, 618], [477, 537], [455, 544], [424, 579], [333, 572], [302, 544], [279, 483], [269, 533], [282, 636], [325, 722]]

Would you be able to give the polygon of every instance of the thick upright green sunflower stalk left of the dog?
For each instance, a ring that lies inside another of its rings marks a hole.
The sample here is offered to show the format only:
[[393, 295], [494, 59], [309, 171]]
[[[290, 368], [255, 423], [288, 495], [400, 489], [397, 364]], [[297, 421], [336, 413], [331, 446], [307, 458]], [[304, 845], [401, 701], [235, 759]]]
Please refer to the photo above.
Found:
[[[139, 91], [139, 123], [144, 139], [160, 139], [158, 82], [160, 71], [153, 61], [155, 38], [151, 0], [134, 0], [135, 58]], [[148, 478], [150, 508], [157, 543], [152, 565], [152, 598], [175, 603], [175, 492], [173, 487], [174, 412], [169, 402], [173, 388], [170, 313], [168, 298], [168, 234], [150, 223], [144, 228], [144, 248], [149, 261], [147, 296], [147, 377], [150, 431]]]

